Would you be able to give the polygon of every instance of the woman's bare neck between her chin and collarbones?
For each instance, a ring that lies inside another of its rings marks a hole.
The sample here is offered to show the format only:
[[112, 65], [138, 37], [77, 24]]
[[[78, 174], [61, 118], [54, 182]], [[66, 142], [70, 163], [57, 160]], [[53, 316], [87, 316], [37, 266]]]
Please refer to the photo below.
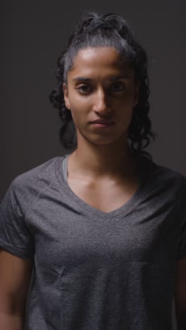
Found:
[[89, 178], [128, 178], [137, 171], [137, 157], [128, 145], [123, 149], [94, 145], [88, 149], [77, 147], [69, 156], [71, 173]]

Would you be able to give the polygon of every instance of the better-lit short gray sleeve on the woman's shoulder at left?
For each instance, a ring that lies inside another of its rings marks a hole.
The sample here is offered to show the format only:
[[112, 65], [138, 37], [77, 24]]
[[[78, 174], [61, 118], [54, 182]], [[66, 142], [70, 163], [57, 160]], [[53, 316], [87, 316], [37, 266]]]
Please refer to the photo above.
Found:
[[20, 183], [14, 179], [0, 204], [0, 247], [23, 259], [32, 259], [34, 238], [25, 226], [21, 206], [24, 204], [24, 192], [20, 195], [20, 190]]

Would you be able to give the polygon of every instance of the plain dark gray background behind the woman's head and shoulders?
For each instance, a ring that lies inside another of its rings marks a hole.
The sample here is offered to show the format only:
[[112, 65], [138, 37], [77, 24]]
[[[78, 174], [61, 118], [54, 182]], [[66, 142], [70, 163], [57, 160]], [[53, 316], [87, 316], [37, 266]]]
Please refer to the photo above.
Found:
[[18, 174], [68, 150], [49, 104], [56, 59], [84, 10], [121, 14], [147, 50], [154, 161], [186, 176], [185, 1], [1, 1], [0, 200]]

